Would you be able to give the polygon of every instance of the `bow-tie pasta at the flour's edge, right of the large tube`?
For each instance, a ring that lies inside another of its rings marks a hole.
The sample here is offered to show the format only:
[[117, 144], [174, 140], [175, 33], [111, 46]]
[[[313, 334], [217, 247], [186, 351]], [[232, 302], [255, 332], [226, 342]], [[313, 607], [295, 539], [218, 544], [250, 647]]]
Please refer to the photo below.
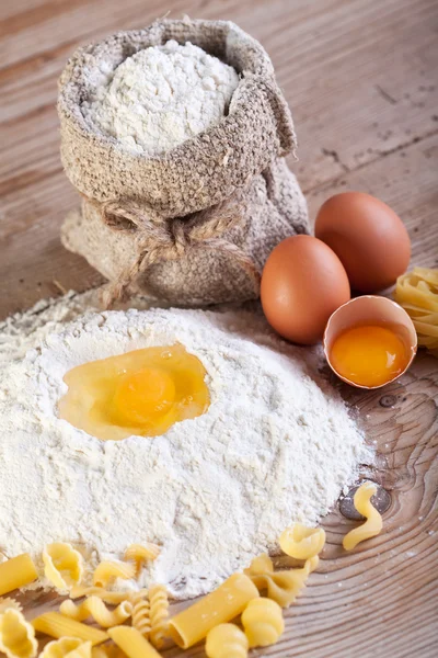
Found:
[[[304, 566], [299, 569], [274, 571], [273, 560], [267, 555], [263, 555], [255, 558], [244, 572], [260, 591], [267, 590], [269, 599], [276, 601], [281, 608], [288, 608], [306, 586], [309, 574], [314, 571], [318, 563], [319, 557], [315, 555], [306, 560]], [[265, 570], [262, 570], [263, 568]]]

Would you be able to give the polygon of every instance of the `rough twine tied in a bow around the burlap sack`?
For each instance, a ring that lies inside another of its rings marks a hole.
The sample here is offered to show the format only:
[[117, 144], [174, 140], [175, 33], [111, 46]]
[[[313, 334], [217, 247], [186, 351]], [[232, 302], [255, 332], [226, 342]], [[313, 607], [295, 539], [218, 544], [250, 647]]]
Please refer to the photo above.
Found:
[[129, 286], [151, 265], [177, 260], [197, 249], [212, 249], [232, 256], [245, 270], [258, 296], [260, 272], [253, 260], [240, 247], [221, 237], [242, 220], [241, 203], [226, 201], [183, 219], [164, 219], [155, 211], [146, 213], [132, 201], [91, 203], [99, 207], [102, 220], [107, 227], [116, 231], [136, 234], [137, 238], [135, 260], [103, 293], [105, 308], [110, 308], [116, 300], [124, 299]]

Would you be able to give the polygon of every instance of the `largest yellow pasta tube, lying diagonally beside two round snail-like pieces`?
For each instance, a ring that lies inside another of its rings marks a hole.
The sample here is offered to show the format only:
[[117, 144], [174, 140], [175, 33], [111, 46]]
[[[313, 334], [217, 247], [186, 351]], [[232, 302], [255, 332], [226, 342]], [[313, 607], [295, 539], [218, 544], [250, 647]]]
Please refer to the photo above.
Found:
[[187, 649], [215, 626], [233, 620], [257, 597], [257, 588], [247, 576], [233, 574], [215, 591], [171, 619], [171, 637], [178, 647]]

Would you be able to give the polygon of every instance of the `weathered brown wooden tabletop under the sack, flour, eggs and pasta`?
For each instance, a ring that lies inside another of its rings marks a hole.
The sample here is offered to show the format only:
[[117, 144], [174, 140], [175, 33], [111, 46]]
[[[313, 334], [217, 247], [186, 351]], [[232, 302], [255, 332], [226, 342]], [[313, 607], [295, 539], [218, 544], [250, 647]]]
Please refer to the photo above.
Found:
[[[3, 1], [0, 318], [101, 283], [59, 241], [78, 196], [59, 160], [56, 81], [78, 45], [145, 26], [168, 10], [172, 18], [231, 19], [266, 47], [293, 112], [300, 160], [292, 167], [312, 218], [336, 192], [369, 192], [405, 222], [413, 264], [438, 265], [435, 0]], [[392, 496], [384, 531], [346, 555], [339, 544], [351, 523], [337, 510], [330, 514], [323, 559], [287, 612], [284, 638], [254, 655], [437, 656], [437, 364], [420, 355], [385, 398], [343, 388], [379, 449], [372, 477]], [[47, 595], [25, 601], [31, 615], [56, 604]]]

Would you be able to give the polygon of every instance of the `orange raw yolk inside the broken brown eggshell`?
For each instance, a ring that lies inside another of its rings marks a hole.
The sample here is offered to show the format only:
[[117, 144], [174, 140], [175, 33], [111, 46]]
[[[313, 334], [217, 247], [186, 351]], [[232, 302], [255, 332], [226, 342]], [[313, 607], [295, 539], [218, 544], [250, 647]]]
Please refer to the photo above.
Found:
[[330, 359], [335, 371], [359, 386], [381, 386], [400, 375], [408, 361], [396, 331], [381, 326], [353, 327], [333, 343]]

